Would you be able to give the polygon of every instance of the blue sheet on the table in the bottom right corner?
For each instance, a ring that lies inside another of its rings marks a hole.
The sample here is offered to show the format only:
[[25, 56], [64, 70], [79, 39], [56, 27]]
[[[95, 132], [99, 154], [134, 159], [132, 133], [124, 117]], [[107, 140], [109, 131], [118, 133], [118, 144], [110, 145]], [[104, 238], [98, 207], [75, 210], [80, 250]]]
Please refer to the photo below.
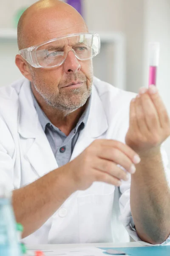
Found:
[[[100, 248], [102, 250], [114, 249], [125, 252], [130, 256], [170, 256], [170, 245], [147, 246], [147, 247], [120, 247], [120, 248]], [[108, 256], [110, 254], [105, 253]], [[111, 256], [111, 255], [110, 255]]]

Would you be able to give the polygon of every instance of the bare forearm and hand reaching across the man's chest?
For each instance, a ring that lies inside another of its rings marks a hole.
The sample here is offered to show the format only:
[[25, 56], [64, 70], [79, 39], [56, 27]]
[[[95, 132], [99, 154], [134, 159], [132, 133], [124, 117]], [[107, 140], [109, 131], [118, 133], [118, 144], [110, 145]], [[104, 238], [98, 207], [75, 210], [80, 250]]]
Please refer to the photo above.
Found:
[[[13, 191], [17, 222], [24, 226], [23, 237], [40, 228], [75, 191], [88, 189], [94, 181], [119, 186], [134, 173], [138, 155], [116, 140], [95, 140], [78, 157], [48, 172], [33, 183]], [[127, 172], [119, 168], [122, 166]]]

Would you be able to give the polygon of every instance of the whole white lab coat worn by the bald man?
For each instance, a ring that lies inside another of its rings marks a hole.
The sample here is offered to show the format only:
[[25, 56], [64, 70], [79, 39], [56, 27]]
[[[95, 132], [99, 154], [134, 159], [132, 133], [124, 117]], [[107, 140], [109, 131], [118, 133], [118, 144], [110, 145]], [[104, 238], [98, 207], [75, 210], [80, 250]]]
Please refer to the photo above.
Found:
[[[119, 90], [94, 78], [91, 108], [80, 132], [71, 160], [96, 139], [125, 143], [129, 106], [134, 93]], [[166, 155], [163, 156], [167, 165]], [[57, 162], [40, 125], [26, 79], [0, 88], [0, 180], [11, 189], [32, 183]], [[167, 170], [167, 169], [166, 169]], [[140, 241], [130, 213], [130, 180], [120, 189], [94, 182], [85, 191], [72, 194], [40, 227], [23, 239], [29, 244]], [[169, 242], [168, 238], [165, 243]]]

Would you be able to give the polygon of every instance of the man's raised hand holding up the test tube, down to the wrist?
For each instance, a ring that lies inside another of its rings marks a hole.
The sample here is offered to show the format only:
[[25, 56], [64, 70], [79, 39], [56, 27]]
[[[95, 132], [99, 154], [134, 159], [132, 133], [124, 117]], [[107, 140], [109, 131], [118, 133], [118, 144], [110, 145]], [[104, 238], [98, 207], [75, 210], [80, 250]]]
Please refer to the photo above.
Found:
[[160, 151], [170, 136], [170, 119], [156, 86], [142, 87], [130, 102], [130, 125], [126, 144], [140, 156]]

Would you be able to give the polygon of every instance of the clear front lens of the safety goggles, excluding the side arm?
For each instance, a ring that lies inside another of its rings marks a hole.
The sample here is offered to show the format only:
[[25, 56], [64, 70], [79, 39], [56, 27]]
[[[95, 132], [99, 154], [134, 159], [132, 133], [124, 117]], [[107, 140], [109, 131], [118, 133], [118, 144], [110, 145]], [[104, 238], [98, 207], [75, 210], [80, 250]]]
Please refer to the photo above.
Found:
[[54, 67], [65, 61], [70, 50], [79, 60], [93, 58], [99, 52], [99, 38], [95, 34], [59, 38], [39, 46], [35, 54], [41, 67]]

